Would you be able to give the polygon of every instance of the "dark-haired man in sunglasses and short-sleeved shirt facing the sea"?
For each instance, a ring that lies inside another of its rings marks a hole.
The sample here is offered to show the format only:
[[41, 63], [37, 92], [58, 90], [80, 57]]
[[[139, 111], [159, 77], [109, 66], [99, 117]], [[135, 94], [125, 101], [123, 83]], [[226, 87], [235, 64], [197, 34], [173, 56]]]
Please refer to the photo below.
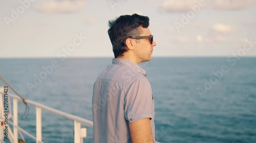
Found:
[[150, 61], [153, 36], [149, 18], [122, 15], [109, 21], [108, 34], [115, 58], [94, 83], [92, 110], [95, 143], [154, 143], [154, 98], [146, 72], [139, 66]]

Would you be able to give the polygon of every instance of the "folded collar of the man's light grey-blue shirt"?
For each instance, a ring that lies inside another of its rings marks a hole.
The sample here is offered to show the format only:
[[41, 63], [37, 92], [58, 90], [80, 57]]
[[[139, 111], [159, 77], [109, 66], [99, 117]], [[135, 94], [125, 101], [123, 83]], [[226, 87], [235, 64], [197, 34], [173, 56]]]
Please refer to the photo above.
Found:
[[122, 66], [129, 66], [133, 68], [134, 70], [140, 72], [146, 77], [146, 71], [142, 69], [140, 66], [137, 64], [133, 63], [132, 61], [126, 60], [126, 59], [121, 59], [121, 58], [113, 58], [112, 59], [112, 65], [122, 65]]

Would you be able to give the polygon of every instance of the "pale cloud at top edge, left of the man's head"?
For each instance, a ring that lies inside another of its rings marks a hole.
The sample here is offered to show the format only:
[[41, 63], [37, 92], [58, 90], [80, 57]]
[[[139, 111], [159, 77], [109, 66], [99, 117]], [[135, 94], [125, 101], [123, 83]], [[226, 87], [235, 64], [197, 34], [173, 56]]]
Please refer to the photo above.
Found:
[[77, 1], [48, 1], [43, 2], [40, 6], [35, 7], [36, 10], [45, 13], [69, 13], [69, 12], [80, 12], [85, 7], [83, 0]]

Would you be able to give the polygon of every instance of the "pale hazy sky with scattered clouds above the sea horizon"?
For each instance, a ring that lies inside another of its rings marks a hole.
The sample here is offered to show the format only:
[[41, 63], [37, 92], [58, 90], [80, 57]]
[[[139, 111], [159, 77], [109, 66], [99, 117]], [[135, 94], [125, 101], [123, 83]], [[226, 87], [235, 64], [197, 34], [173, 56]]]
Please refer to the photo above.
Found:
[[150, 18], [152, 56], [256, 56], [256, 0], [8, 0], [0, 58], [114, 57], [108, 21]]

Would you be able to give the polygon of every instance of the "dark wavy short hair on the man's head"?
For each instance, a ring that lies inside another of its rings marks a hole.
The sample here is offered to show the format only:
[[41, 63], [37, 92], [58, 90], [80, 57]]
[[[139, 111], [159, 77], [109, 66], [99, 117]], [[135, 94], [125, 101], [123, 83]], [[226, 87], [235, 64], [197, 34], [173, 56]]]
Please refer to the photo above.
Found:
[[150, 18], [138, 14], [122, 15], [115, 20], [110, 20], [108, 34], [115, 58], [127, 51], [125, 45], [127, 38], [135, 38], [141, 34], [139, 26], [147, 28], [149, 25]]

